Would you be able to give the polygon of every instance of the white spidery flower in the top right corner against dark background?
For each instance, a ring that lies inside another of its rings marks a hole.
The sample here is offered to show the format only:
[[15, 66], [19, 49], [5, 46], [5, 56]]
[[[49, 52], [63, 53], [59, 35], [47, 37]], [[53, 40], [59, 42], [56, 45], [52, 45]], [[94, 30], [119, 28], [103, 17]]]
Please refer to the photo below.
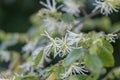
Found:
[[95, 6], [93, 12], [100, 9], [100, 12], [106, 16], [113, 13], [113, 11], [118, 12], [118, 10], [112, 5], [112, 1], [109, 0], [95, 0], [95, 3], [93, 5]]

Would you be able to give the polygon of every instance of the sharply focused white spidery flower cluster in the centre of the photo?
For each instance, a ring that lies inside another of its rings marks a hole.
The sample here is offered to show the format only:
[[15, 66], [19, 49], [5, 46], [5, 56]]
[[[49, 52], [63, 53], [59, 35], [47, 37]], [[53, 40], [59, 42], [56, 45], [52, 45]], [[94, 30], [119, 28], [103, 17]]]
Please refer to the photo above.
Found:
[[63, 57], [69, 54], [73, 49], [80, 49], [82, 46], [80, 46], [79, 43], [89, 40], [85, 38], [82, 33], [76, 34], [70, 31], [68, 31], [62, 39], [58, 37], [54, 39], [47, 32], [43, 35], [50, 40], [50, 43], [44, 48], [45, 54], [49, 55], [51, 50], [54, 50], [54, 57], [57, 55]]

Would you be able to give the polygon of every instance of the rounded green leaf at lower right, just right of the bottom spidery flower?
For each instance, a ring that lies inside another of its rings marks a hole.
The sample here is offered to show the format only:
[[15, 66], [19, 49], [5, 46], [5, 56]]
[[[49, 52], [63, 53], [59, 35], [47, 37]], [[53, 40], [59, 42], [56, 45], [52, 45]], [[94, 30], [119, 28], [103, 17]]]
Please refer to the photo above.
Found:
[[100, 73], [103, 67], [101, 60], [95, 55], [86, 55], [85, 64], [93, 73]]

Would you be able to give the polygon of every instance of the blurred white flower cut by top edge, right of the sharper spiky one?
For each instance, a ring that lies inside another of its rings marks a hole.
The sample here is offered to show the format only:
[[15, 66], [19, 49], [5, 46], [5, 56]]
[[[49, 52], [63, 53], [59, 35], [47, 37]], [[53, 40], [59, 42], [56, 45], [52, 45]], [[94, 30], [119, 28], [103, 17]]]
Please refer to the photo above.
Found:
[[75, 2], [74, 0], [63, 0], [63, 3], [65, 4], [65, 6], [62, 8], [63, 11], [78, 16], [80, 13], [79, 3]]

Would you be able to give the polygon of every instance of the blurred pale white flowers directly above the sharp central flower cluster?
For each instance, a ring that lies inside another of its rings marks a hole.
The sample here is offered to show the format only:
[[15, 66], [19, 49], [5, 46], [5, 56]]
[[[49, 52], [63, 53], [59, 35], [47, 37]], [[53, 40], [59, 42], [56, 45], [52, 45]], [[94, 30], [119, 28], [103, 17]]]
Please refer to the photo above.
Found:
[[53, 33], [56, 30], [59, 33], [63, 33], [65, 30], [72, 29], [72, 24], [67, 24], [63, 21], [56, 21], [54, 18], [49, 16], [44, 16], [43, 22], [43, 26], [46, 27], [47, 31], [50, 33]]

